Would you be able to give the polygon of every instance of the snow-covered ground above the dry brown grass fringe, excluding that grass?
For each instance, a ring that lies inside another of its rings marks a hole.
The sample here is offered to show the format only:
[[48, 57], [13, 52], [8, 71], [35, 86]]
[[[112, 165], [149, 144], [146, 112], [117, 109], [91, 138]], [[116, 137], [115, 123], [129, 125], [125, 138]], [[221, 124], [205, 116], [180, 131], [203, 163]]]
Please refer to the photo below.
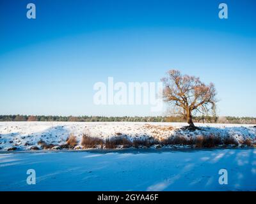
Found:
[[255, 142], [256, 128], [243, 124], [195, 124], [202, 130], [185, 131], [180, 129], [186, 123], [161, 122], [0, 122], [0, 149], [17, 147], [19, 150], [38, 147], [38, 141], [61, 145], [70, 133], [76, 136], [78, 145], [83, 134], [106, 140], [116, 135], [134, 138], [156, 138], [163, 140], [172, 136], [186, 139], [213, 135], [220, 138], [232, 137], [242, 143], [246, 138]]

